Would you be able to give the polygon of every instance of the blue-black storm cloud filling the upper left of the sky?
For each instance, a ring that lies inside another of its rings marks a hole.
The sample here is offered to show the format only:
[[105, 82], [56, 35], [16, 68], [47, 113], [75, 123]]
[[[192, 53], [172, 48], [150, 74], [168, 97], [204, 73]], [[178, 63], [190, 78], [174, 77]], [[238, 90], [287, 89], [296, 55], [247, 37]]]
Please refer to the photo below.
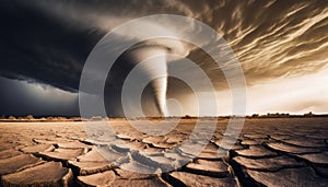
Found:
[[78, 90], [97, 30], [57, 19], [33, 3], [2, 2], [1, 75]]

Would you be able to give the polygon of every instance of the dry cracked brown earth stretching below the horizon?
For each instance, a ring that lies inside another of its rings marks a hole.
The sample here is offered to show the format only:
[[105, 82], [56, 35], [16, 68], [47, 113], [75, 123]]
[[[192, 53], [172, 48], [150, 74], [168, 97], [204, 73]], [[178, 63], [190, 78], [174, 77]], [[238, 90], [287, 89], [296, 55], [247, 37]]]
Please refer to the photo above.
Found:
[[[81, 122], [1, 122], [1, 185], [328, 186], [328, 118], [246, 119], [224, 156], [218, 149], [231, 135], [225, 133], [227, 120], [219, 119], [197, 157], [191, 155], [198, 141], [177, 147], [189, 138], [195, 119], [180, 120], [165, 136], [142, 133], [122, 119], [110, 124], [124, 143], [91, 140]], [[97, 148], [106, 149], [110, 159]], [[181, 163], [186, 165], [177, 167]], [[161, 172], [165, 170], [171, 172]]]

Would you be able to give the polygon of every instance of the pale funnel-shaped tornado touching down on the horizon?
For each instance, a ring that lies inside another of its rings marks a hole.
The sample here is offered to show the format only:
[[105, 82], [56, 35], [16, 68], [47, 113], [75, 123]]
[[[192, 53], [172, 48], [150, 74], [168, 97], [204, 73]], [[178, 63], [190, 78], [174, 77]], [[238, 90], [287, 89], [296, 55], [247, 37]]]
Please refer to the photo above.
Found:
[[[148, 63], [142, 66], [142, 73], [152, 80], [150, 85], [159, 114], [162, 117], [167, 116], [167, 63], [188, 55], [185, 45], [177, 39], [152, 39], [133, 46], [129, 49], [128, 55], [134, 65], [148, 61]], [[168, 55], [175, 58], [167, 58]]]

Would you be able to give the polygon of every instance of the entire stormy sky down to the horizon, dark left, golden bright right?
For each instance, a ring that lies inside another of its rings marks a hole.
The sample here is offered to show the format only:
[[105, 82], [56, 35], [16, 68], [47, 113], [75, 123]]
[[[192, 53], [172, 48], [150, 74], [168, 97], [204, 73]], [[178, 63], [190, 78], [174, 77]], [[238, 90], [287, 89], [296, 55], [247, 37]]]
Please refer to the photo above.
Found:
[[[0, 115], [79, 116], [80, 77], [93, 47], [122, 23], [160, 13], [196, 19], [226, 40], [244, 71], [247, 114], [328, 113], [327, 1], [4, 0], [0, 4]], [[165, 30], [198, 32], [188, 26]], [[186, 58], [212, 81], [219, 112], [197, 114], [190, 87], [169, 78], [167, 98], [177, 100], [181, 107], [173, 107], [172, 115], [232, 114], [231, 91], [220, 68], [201, 49], [186, 46]], [[121, 115], [117, 102], [121, 84], [136, 66], [132, 61], [140, 59], [133, 57], [136, 50], [130, 51], [116, 61], [108, 75], [105, 101], [109, 116]], [[168, 72], [172, 67], [167, 66]], [[180, 73], [195, 74], [191, 69]], [[152, 92], [144, 92], [149, 108], [155, 107]], [[207, 89], [202, 92], [204, 103], [213, 102], [207, 101]]]

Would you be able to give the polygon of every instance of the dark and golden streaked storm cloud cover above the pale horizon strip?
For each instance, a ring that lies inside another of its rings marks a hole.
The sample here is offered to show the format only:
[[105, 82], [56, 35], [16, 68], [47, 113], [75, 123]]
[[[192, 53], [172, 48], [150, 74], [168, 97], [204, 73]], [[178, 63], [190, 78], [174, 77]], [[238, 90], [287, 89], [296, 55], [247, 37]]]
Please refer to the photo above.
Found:
[[[215, 30], [235, 51], [249, 86], [328, 67], [327, 1], [4, 0], [0, 77], [77, 93], [84, 62], [106, 33], [126, 21], [159, 13], [186, 15]], [[218, 90], [227, 89], [222, 71], [201, 49], [190, 47], [188, 58]], [[112, 79], [124, 80], [129, 69], [117, 67]], [[174, 84], [168, 82], [168, 95], [179, 92], [171, 89]]]

